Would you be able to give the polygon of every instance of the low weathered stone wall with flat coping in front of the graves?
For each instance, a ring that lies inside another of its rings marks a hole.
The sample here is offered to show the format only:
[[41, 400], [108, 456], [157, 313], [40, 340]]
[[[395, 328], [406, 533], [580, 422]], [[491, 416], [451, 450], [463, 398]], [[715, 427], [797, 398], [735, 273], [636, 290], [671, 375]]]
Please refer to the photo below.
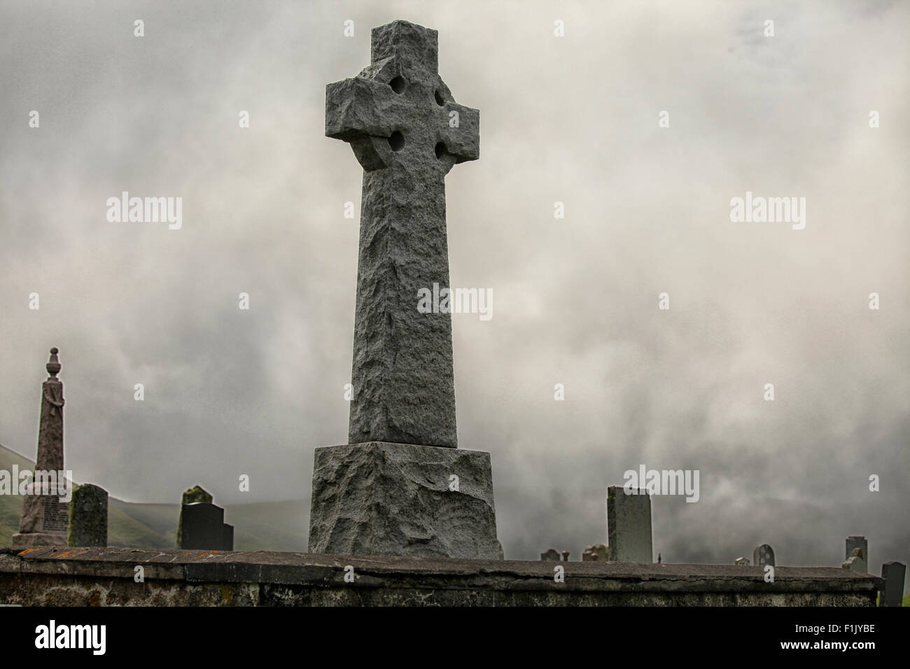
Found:
[[838, 567], [777, 567], [767, 583], [722, 564], [0, 549], [0, 603], [23, 605], [874, 606], [882, 584]]

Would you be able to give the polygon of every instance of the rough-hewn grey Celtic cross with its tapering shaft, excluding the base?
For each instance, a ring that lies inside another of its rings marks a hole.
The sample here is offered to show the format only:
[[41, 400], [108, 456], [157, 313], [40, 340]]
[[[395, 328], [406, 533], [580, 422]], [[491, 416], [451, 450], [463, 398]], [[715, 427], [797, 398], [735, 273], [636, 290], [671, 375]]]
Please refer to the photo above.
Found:
[[451, 316], [417, 306], [450, 288], [445, 177], [480, 157], [480, 112], [440, 78], [435, 30], [393, 21], [370, 45], [369, 66], [326, 86], [326, 136], [364, 170], [349, 443], [458, 448]]

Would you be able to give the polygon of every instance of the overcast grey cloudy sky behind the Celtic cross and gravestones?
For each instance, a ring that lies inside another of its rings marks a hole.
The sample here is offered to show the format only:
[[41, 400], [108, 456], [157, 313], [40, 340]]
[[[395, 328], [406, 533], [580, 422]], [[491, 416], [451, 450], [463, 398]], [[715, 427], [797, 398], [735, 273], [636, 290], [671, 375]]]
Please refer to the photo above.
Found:
[[[605, 487], [645, 464], [701, 474], [654, 499], [667, 562], [835, 564], [848, 534], [875, 573], [910, 560], [902, 2], [2, 2], [0, 443], [34, 457], [57, 346], [77, 481], [308, 496], [347, 441], [358, 253], [325, 85], [396, 18], [480, 109], [451, 285], [495, 301], [453, 316], [455, 385], [507, 556], [603, 542]], [[183, 198], [182, 228], [108, 222], [125, 190]], [[806, 198], [805, 228], [732, 222], [746, 191]]]

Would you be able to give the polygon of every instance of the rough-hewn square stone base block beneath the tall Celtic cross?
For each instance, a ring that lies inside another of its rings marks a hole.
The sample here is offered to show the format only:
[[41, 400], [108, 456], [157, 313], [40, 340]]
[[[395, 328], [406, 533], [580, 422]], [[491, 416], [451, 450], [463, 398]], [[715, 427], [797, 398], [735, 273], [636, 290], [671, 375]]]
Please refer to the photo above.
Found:
[[497, 559], [490, 453], [386, 441], [316, 449], [308, 550]]

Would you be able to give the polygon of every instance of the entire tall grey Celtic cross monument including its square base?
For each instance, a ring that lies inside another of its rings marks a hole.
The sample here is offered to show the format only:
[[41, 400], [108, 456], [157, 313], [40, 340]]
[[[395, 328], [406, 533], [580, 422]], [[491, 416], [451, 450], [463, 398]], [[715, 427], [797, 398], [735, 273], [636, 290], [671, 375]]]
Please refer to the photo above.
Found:
[[319, 448], [309, 551], [497, 557], [490, 454], [460, 451], [445, 177], [480, 157], [480, 112], [438, 73], [438, 35], [373, 28], [371, 63], [326, 87], [326, 136], [363, 167], [349, 444]]

